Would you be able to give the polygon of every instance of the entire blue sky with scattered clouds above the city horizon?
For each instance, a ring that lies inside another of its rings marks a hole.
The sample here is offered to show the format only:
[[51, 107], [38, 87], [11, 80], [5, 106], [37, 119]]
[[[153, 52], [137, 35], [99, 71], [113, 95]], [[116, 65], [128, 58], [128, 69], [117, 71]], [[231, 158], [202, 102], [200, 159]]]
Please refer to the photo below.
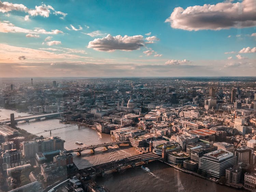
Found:
[[1, 77], [255, 75], [255, 0], [0, 0]]

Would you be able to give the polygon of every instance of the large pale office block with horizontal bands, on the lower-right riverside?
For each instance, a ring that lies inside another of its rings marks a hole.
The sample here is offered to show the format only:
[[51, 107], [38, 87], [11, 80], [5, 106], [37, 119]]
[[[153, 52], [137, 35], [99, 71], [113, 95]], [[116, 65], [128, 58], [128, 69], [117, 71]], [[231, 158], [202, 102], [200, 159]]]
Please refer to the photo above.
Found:
[[199, 168], [208, 172], [212, 177], [220, 178], [225, 175], [226, 168], [236, 164], [236, 156], [222, 149], [204, 154], [199, 158]]

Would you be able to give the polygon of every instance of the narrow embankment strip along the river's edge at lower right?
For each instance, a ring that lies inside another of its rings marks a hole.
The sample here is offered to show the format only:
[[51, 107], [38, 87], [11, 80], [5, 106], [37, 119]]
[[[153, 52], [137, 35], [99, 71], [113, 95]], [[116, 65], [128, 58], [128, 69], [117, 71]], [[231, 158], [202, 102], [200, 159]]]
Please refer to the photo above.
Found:
[[165, 162], [165, 161], [162, 161], [162, 160], [158, 160], [158, 161], [160, 161], [160, 162], [162, 162], [162, 163], [165, 163], [165, 164], [167, 164], [167, 165], [173, 167], [173, 168], [176, 169], [176, 170], [182, 171], [183, 173], [187, 173], [187, 174], [190, 174], [190, 175], [194, 175], [194, 176], [196, 176], [196, 177], [200, 177], [200, 178], [202, 178], [202, 179], [206, 179], [206, 180], [208, 180], [208, 181], [214, 182], [214, 183], [219, 184], [219, 185], [225, 185], [225, 186], [228, 186], [228, 187], [231, 187], [231, 188], [243, 189], [243, 190], [246, 190], [246, 191], [250, 191], [250, 190], [246, 189], [243, 185], [234, 185], [233, 183], [222, 184], [222, 183], [219, 183], [219, 181], [216, 180], [216, 179], [211, 179], [211, 178], [204, 177], [204, 176], [199, 175], [199, 174], [197, 174], [197, 173], [195, 173], [195, 172], [188, 171], [188, 170], [186, 170], [186, 169], [177, 167], [177, 166], [175, 166], [175, 165], [172, 165], [172, 164], [170, 164], [170, 163], [168, 163], [168, 162]]

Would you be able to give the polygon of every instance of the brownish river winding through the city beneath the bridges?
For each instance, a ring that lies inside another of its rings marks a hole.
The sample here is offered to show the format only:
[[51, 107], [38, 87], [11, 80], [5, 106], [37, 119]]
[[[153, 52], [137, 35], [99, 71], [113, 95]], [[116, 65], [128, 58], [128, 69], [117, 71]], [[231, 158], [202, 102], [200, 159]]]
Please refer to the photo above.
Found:
[[[18, 115], [25, 116], [26, 113], [16, 113], [12, 110], [1, 109], [0, 119], [10, 117], [10, 113], [14, 113], [15, 117]], [[18, 123], [17, 127], [24, 129], [30, 133], [43, 135], [44, 137], [59, 136], [64, 139], [64, 148], [67, 150], [81, 147], [75, 144], [76, 141], [82, 142], [82, 146], [89, 146], [101, 143], [114, 142], [109, 134], [99, 133], [95, 129], [78, 126], [76, 124], [62, 124], [58, 119], [47, 119], [41, 121], [31, 121], [30, 123]], [[55, 128], [62, 128], [53, 130], [50, 135], [50, 130]], [[78, 168], [85, 168], [92, 165], [97, 165], [125, 157], [130, 157], [138, 154], [133, 147], [117, 147], [104, 151], [104, 148], [97, 148], [95, 153], [90, 153], [90, 150], [83, 151], [81, 156], [73, 153], [73, 161]], [[130, 168], [120, 173], [112, 173], [104, 177], [97, 177], [96, 181], [108, 188], [110, 191], [226, 191], [236, 192], [236, 190], [226, 186], [221, 186], [204, 180], [193, 175], [185, 174], [176, 169], [155, 161], [147, 165], [151, 172], [147, 173], [140, 167]]]

